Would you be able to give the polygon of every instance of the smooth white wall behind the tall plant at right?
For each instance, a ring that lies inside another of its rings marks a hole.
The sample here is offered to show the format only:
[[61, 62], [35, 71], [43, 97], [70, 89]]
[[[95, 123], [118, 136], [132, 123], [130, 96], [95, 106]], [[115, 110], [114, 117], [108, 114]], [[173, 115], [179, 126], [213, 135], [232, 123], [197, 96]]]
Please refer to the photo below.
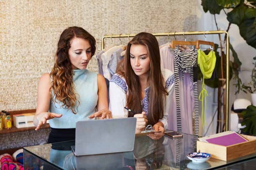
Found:
[[[228, 12], [228, 10], [226, 10]], [[197, 9], [196, 9], [196, 16], [197, 16], [197, 24], [196, 29], [197, 31], [211, 31], [211, 30], [217, 30], [215, 21], [214, 21], [214, 15], [210, 14], [208, 11], [207, 13], [204, 12], [203, 7], [201, 5], [201, 0], [197, 0]], [[228, 20], [227, 16], [224, 13], [224, 11], [221, 11], [219, 15], [216, 15], [216, 20], [218, 27], [220, 30], [226, 30], [228, 27]], [[233, 48], [235, 49], [240, 61], [242, 62], [242, 70], [239, 73], [239, 77], [241, 78], [242, 82], [248, 83], [251, 81], [250, 75], [251, 70], [253, 68], [253, 57], [256, 55], [255, 48], [252, 48], [249, 46], [246, 41], [241, 37], [239, 33], [239, 28], [235, 24], [231, 24], [230, 29], [228, 31], [230, 36], [230, 43], [232, 44]], [[207, 41], [213, 41], [215, 43], [220, 44], [218, 35], [206, 35]], [[204, 40], [204, 35], [200, 35], [197, 37], [198, 39]], [[224, 34], [221, 37], [222, 40], [224, 40]], [[230, 59], [233, 60], [232, 53], [230, 51]], [[250, 94], [246, 94], [244, 92], [240, 92], [239, 94], [235, 95], [235, 86], [233, 85], [235, 83], [234, 80], [230, 81], [230, 92], [229, 92], [229, 103], [231, 108], [231, 105], [233, 104], [234, 100], [238, 98], [245, 98], [251, 101]], [[202, 82], [198, 82], [198, 87], [201, 87]], [[212, 121], [213, 115], [215, 110], [217, 109], [217, 89], [212, 89], [206, 86], [206, 90], [208, 92], [208, 98], [207, 98], [207, 107], [206, 107], [206, 122], [207, 126], [209, 126], [210, 122]], [[201, 91], [201, 88], [199, 88], [199, 92]], [[201, 104], [199, 103], [199, 106]], [[201, 109], [200, 109], [201, 110]], [[201, 115], [201, 111], [200, 111]], [[214, 116], [214, 120], [208, 130], [207, 135], [216, 133], [216, 126], [217, 126], [217, 114]], [[201, 121], [200, 121], [201, 122]], [[230, 122], [232, 123], [232, 122]], [[204, 132], [202, 130], [202, 125], [200, 124], [200, 134], [204, 135], [206, 132], [206, 129], [204, 129]]]

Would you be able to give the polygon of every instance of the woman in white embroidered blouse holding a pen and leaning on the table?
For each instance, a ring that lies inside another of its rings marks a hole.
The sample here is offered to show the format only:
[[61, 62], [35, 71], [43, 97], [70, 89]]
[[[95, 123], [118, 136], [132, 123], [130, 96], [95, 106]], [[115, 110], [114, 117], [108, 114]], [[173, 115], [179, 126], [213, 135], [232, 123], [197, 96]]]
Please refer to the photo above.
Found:
[[161, 70], [156, 37], [144, 32], [137, 34], [128, 43], [124, 59], [110, 79], [109, 106], [113, 118], [136, 117], [136, 132], [151, 124], [153, 129], [161, 132], [148, 136], [160, 138], [168, 127], [174, 82], [172, 71]]

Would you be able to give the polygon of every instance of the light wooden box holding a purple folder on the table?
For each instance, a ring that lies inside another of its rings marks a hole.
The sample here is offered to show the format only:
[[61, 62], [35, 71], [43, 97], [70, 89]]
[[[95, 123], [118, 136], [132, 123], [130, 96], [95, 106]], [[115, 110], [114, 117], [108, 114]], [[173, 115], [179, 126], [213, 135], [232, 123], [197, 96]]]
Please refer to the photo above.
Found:
[[256, 137], [248, 135], [241, 136], [248, 141], [230, 146], [197, 141], [196, 151], [198, 152], [200, 150], [200, 152], [210, 153], [212, 158], [224, 161], [256, 153]]

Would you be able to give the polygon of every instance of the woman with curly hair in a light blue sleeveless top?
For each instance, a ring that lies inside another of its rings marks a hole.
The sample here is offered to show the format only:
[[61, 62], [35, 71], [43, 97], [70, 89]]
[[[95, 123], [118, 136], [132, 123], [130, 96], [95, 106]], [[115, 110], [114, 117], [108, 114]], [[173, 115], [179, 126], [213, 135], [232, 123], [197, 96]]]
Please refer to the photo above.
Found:
[[49, 120], [48, 143], [75, 140], [79, 120], [112, 118], [104, 77], [86, 69], [96, 50], [95, 42], [81, 27], [65, 29], [52, 71], [39, 80], [34, 125], [38, 130]]

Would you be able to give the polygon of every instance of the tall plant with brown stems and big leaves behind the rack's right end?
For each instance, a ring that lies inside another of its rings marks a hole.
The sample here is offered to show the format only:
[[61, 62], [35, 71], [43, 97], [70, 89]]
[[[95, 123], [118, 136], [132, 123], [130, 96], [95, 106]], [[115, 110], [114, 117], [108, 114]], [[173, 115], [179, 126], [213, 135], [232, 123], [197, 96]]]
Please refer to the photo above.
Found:
[[[217, 30], [220, 30], [216, 21], [216, 14], [220, 14], [220, 11], [223, 10], [225, 14], [227, 15], [227, 20], [229, 21], [227, 32], [230, 28], [231, 24], [236, 24], [239, 27], [240, 35], [244, 38], [247, 44], [252, 46], [253, 48], [256, 48], [256, 0], [202, 0], [201, 5], [203, 6], [204, 12], [209, 11], [211, 14], [214, 15], [214, 20], [216, 24]], [[228, 9], [228, 13], [225, 11]], [[224, 42], [226, 42], [227, 37], [225, 36]], [[218, 88], [218, 122], [217, 122], [217, 129], [216, 133], [224, 130], [225, 123], [223, 123], [222, 128], [220, 127], [219, 120], [221, 118], [221, 104], [223, 105], [223, 117], [225, 120], [225, 112], [226, 112], [226, 106], [225, 106], [225, 71], [226, 71], [226, 55], [225, 51], [222, 48], [222, 40], [221, 36], [219, 35], [220, 40], [220, 53], [216, 53], [217, 61], [217, 72], [219, 75], [219, 79], [214, 80], [207, 80], [205, 81], [205, 84], [208, 86], [211, 86], [213, 88]], [[240, 91], [246, 92], [254, 92], [255, 90], [255, 69], [252, 71], [252, 82], [249, 85], [245, 85], [242, 83], [241, 79], [239, 78], [239, 70], [242, 65], [240, 62], [236, 51], [232, 47], [231, 44], [229, 44], [230, 50], [232, 51], [234, 62], [230, 61], [230, 79], [234, 75], [234, 79], [236, 80], [235, 86], [237, 87], [236, 93], [239, 93]], [[217, 49], [217, 48], [215, 48]], [[198, 76], [200, 78], [200, 74]], [[254, 89], [252, 89], [252, 86]], [[222, 103], [221, 103], [222, 98]]]

